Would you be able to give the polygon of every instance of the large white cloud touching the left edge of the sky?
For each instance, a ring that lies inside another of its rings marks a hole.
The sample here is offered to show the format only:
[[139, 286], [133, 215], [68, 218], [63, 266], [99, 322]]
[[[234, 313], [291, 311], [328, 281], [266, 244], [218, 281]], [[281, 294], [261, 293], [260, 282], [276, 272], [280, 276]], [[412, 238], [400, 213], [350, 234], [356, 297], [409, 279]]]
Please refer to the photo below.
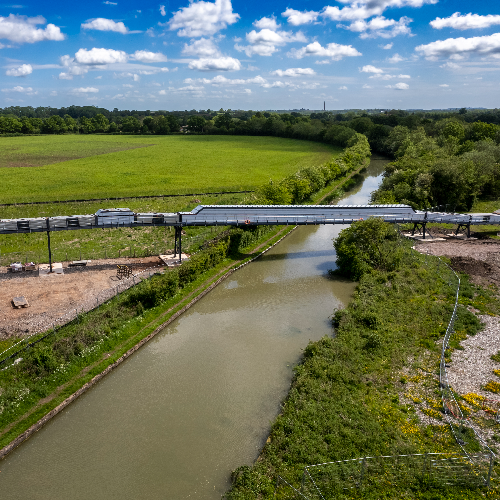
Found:
[[44, 29], [36, 27], [46, 22], [42, 16], [10, 14], [8, 17], [0, 17], [0, 39], [6, 38], [16, 43], [35, 43], [43, 40], [61, 41], [66, 38], [61, 29], [54, 24], [47, 24]]

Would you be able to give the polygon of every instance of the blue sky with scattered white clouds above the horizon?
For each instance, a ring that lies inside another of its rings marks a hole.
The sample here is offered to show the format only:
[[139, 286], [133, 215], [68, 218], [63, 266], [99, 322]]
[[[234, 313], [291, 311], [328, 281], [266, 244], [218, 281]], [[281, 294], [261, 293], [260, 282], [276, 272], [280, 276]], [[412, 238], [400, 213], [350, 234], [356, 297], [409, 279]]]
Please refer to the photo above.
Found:
[[0, 107], [496, 108], [500, 2], [0, 4]]

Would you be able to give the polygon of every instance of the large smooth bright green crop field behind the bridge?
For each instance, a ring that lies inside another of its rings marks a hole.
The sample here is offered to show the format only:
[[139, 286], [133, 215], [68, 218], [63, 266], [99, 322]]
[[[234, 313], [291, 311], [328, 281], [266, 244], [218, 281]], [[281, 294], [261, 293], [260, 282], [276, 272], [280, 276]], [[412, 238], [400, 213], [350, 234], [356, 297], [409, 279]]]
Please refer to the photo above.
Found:
[[239, 136], [5, 137], [0, 145], [0, 203], [250, 190], [340, 152]]

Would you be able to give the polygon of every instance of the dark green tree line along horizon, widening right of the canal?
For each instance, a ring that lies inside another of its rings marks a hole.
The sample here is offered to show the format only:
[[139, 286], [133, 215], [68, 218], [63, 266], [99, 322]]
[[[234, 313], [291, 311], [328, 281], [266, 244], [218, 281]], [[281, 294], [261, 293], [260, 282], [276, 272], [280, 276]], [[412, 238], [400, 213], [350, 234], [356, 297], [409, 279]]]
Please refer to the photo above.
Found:
[[[44, 113], [50, 116], [40, 117]], [[372, 196], [373, 202], [407, 203], [419, 209], [449, 205], [469, 210], [480, 196], [500, 197], [500, 110], [496, 109], [124, 112], [71, 106], [0, 110], [0, 134], [67, 133], [262, 135], [320, 141], [342, 148], [359, 142], [358, 135], [362, 134], [373, 151], [394, 159]], [[296, 187], [287, 189], [294, 190]], [[292, 194], [293, 199], [300, 198], [297, 193]]]

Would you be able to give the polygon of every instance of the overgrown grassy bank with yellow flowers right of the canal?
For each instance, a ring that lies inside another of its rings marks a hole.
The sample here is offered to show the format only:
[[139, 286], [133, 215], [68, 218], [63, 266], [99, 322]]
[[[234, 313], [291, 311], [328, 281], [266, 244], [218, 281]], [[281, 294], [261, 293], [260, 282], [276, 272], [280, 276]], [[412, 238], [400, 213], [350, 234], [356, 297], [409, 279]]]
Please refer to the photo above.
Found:
[[[438, 386], [441, 339], [453, 310], [454, 289], [444, 267], [439, 271], [444, 279], [439, 276], [434, 258], [426, 260], [408, 247], [401, 250], [404, 258], [397, 269], [363, 274], [351, 304], [334, 316], [335, 338], [306, 348], [267, 444], [253, 466], [234, 472], [228, 499], [272, 498], [277, 475], [299, 488], [307, 465], [461, 451], [443, 419]], [[465, 276], [460, 302], [491, 314], [500, 310], [491, 292], [472, 286]], [[480, 328], [461, 306], [450, 345], [456, 348]], [[423, 380], [429, 385], [426, 401], [412, 396]], [[464, 440], [469, 451], [480, 450], [474, 435]], [[318, 482], [327, 473], [323, 467]], [[354, 486], [348, 477], [344, 485]], [[422, 479], [409, 483], [400, 476], [391, 484], [383, 474], [365, 486], [340, 489], [332, 498], [472, 499], [500, 494], [497, 483], [488, 491], [467, 480], [454, 486]], [[278, 497], [292, 498], [285, 490]]]

